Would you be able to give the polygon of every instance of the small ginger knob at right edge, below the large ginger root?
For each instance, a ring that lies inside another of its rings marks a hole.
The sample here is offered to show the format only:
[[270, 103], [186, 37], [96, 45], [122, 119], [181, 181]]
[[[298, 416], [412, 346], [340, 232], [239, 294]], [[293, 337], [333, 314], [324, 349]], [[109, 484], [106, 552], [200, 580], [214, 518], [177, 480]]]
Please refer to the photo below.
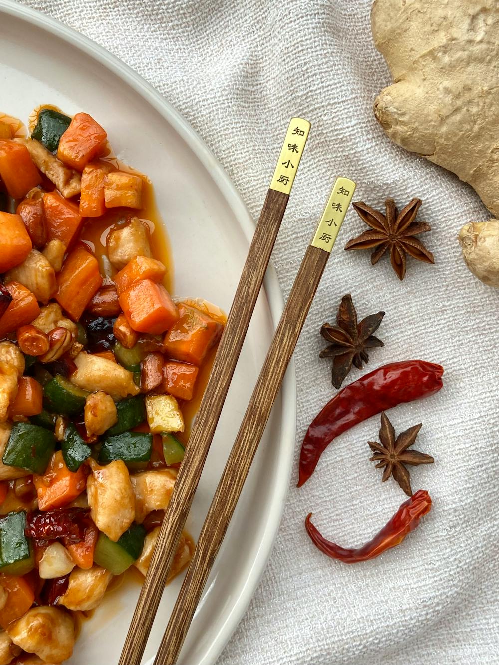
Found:
[[470, 221], [459, 231], [458, 240], [473, 275], [499, 289], [499, 219]]

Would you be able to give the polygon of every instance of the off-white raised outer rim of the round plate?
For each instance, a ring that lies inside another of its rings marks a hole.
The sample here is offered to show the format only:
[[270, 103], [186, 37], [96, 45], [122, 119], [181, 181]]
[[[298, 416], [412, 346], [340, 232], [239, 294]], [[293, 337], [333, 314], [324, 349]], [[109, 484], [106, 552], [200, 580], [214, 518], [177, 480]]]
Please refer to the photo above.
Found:
[[[131, 86], [142, 98], [148, 102], [167, 122], [169, 122], [182, 139], [188, 144], [189, 148], [206, 166], [206, 170], [214, 180], [214, 184], [220, 190], [222, 196], [226, 199], [228, 206], [232, 210], [234, 217], [238, 223], [249, 243], [253, 237], [255, 229], [255, 221], [249, 214], [246, 203], [244, 203], [242, 196], [238, 192], [236, 186], [230, 179], [230, 176], [218, 161], [216, 156], [212, 153], [210, 148], [206, 145], [202, 137], [192, 128], [192, 126], [185, 120], [185, 118], [162, 96], [162, 94], [148, 83], [140, 74], [134, 71], [126, 63], [122, 62], [118, 57], [104, 49], [96, 42], [92, 41], [89, 37], [82, 35], [77, 30], [61, 23], [57, 19], [41, 13], [31, 7], [19, 5], [13, 0], [0, 0], [0, 14], [4, 13], [31, 23], [35, 27], [45, 30], [59, 39], [62, 39], [69, 46], [79, 49], [88, 55], [90, 58], [98, 61], [101, 65], [111, 70], [118, 78], [124, 83]], [[263, 282], [265, 295], [269, 303], [269, 311], [273, 329], [277, 327], [277, 323], [283, 311], [284, 301], [277, 273], [272, 263], [269, 263], [265, 280]], [[279, 437], [279, 461], [277, 469], [275, 470], [276, 483], [273, 485], [273, 493], [269, 502], [269, 513], [267, 523], [263, 529], [263, 537], [255, 559], [251, 563], [248, 579], [240, 593], [234, 601], [224, 610], [225, 618], [222, 619], [219, 630], [214, 634], [210, 646], [208, 646], [206, 653], [202, 656], [202, 664], [214, 663], [222, 650], [228, 644], [232, 634], [238, 627], [240, 620], [246, 612], [249, 602], [253, 597], [259, 581], [267, 566], [267, 561], [271, 555], [277, 533], [281, 524], [281, 519], [285, 507], [287, 493], [289, 491], [289, 484], [291, 479], [291, 471], [293, 467], [295, 436], [296, 436], [296, 422], [297, 422], [297, 386], [296, 386], [296, 372], [295, 360], [291, 358], [283, 384], [281, 387], [281, 414], [279, 430], [281, 432]], [[287, 451], [286, 449], [289, 448]], [[269, 525], [272, 528], [269, 528]], [[124, 636], [123, 636], [124, 638]]]

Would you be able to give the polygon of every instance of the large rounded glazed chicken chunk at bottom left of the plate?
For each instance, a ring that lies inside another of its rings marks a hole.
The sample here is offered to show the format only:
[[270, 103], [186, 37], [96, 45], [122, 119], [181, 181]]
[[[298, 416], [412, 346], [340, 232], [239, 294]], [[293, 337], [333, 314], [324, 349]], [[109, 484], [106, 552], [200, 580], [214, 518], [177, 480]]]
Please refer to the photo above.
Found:
[[14, 644], [47, 663], [62, 663], [73, 654], [75, 622], [59, 607], [32, 607], [7, 632]]

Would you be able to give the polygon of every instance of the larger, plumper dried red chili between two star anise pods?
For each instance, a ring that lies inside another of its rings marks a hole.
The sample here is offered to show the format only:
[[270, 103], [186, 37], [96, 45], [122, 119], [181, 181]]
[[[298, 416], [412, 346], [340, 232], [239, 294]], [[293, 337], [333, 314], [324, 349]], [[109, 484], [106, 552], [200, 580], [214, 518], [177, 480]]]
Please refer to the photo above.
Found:
[[301, 444], [301, 487], [331, 441], [357, 423], [442, 388], [444, 368], [424, 360], [391, 362], [342, 388], [311, 422]]

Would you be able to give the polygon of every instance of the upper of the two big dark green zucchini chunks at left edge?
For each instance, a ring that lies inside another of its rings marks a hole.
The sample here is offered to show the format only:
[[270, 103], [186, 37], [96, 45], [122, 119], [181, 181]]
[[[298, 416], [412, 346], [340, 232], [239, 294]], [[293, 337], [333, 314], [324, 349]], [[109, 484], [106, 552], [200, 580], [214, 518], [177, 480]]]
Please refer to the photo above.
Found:
[[43, 474], [55, 450], [54, 433], [31, 422], [16, 422], [3, 454], [3, 464]]

